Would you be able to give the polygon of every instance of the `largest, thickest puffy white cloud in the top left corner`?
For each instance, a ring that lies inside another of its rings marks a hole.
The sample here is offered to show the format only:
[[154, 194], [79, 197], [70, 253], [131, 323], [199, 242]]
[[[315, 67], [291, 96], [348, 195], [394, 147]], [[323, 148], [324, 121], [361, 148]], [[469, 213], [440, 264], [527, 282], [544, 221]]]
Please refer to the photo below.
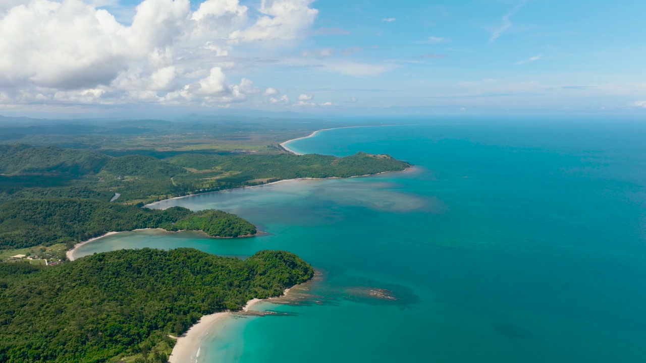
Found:
[[136, 9], [131, 26], [81, 0], [34, 0], [8, 10], [0, 20], [0, 86], [91, 88], [134, 62], [167, 63], [189, 1], [145, 0]]

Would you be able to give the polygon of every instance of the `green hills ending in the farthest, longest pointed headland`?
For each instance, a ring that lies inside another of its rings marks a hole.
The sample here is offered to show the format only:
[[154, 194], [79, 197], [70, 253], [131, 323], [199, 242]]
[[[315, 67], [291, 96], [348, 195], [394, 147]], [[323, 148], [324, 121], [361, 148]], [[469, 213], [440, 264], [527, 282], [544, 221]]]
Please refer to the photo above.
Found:
[[[4, 154], [3, 154], [4, 152]], [[28, 163], [12, 153], [25, 153]], [[33, 157], [29, 158], [28, 155]], [[36, 156], [34, 156], [36, 155]], [[65, 160], [65, 157], [69, 160]], [[328, 178], [400, 171], [410, 166], [388, 155], [364, 152], [345, 158], [328, 155], [176, 154], [112, 157], [56, 147], [0, 145], [0, 201], [19, 198], [92, 198], [118, 203], [147, 202], [258, 185], [291, 178]]]

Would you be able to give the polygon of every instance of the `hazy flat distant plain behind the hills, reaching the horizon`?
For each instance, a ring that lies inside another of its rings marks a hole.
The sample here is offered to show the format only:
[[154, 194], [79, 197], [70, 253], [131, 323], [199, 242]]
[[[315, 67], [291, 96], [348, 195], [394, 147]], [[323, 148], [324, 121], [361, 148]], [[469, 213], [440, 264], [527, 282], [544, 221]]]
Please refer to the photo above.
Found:
[[[27, 119], [0, 116], [0, 143], [109, 150], [111, 156], [190, 152], [280, 152], [278, 143], [342, 123], [313, 119], [187, 116], [178, 121]], [[105, 152], [104, 152], [105, 153]]]

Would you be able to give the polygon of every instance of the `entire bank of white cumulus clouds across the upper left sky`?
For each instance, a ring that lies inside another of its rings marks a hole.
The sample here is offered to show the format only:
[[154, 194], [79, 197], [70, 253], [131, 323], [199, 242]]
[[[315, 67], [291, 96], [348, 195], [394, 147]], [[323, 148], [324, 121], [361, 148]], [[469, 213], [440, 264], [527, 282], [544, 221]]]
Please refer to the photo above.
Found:
[[239, 0], [206, 0], [194, 12], [189, 0], [143, 0], [126, 24], [97, 8], [115, 0], [2, 0], [2, 102], [240, 101], [262, 91], [227, 80], [236, 44], [308, 34], [311, 3], [262, 0], [258, 15]]

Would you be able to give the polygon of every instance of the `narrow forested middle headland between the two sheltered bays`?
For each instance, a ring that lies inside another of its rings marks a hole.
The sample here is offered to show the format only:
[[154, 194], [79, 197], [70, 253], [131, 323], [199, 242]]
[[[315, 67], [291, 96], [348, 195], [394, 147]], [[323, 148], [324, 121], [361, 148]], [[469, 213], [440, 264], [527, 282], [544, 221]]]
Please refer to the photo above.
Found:
[[256, 233], [251, 223], [221, 211], [194, 214], [182, 207], [161, 211], [81, 199], [15, 200], [0, 209], [0, 249], [61, 243], [72, 247], [76, 242], [111, 231], [202, 227], [209, 235], [218, 237]]

